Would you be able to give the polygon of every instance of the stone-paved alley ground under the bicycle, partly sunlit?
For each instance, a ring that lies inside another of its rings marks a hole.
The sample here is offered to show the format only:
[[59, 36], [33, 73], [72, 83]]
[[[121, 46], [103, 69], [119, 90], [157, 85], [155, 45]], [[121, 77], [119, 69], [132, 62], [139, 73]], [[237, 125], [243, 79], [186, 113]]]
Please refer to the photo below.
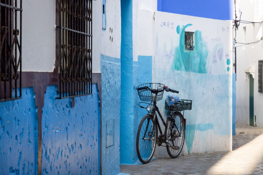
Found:
[[224, 175], [263, 174], [263, 128], [236, 124], [233, 151], [152, 159], [148, 164], [121, 165], [120, 174]]

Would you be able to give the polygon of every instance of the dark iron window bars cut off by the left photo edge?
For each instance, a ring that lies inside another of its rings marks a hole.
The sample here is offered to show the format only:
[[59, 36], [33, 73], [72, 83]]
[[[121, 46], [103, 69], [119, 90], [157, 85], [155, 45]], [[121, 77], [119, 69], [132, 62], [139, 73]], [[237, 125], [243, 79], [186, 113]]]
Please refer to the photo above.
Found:
[[0, 101], [7, 101], [21, 98], [22, 0], [1, 0], [0, 16]]

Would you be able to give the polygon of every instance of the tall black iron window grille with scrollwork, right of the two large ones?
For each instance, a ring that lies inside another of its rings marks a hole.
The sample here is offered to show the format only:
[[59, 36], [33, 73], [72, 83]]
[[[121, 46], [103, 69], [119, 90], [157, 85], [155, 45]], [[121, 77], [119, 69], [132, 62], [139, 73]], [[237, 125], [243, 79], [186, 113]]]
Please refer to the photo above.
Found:
[[67, 98], [92, 93], [92, 0], [58, 0], [59, 94]]

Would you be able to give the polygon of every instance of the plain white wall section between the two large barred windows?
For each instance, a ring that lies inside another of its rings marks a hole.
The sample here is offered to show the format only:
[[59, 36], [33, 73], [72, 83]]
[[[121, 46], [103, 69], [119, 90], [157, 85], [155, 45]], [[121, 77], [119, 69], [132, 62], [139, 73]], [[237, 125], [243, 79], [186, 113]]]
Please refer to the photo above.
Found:
[[22, 71], [53, 72], [55, 1], [23, 1], [22, 5]]

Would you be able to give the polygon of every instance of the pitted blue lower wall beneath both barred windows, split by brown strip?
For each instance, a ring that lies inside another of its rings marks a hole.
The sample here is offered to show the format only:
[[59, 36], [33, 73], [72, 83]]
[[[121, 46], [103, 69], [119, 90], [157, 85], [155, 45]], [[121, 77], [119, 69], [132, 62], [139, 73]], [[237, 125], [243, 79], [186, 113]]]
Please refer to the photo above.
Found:
[[[100, 106], [93, 94], [55, 99], [56, 86], [45, 94], [42, 116], [42, 174], [100, 172]], [[33, 88], [22, 99], [0, 103], [0, 174], [37, 174], [37, 107]]]

